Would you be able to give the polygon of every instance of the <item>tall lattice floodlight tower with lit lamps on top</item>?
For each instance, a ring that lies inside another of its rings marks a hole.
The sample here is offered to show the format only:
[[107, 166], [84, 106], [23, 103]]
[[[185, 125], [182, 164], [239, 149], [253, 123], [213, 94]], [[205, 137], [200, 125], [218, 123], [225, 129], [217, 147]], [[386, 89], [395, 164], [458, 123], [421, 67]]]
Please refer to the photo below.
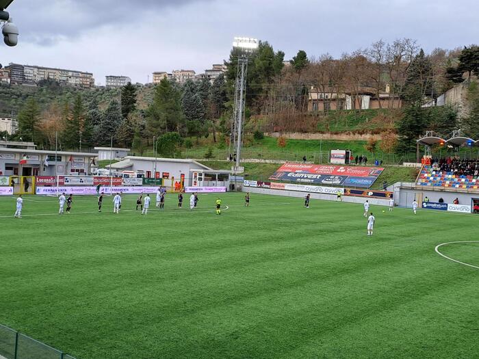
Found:
[[[235, 152], [235, 169], [239, 168], [241, 160], [242, 133], [244, 124], [244, 105], [246, 103], [246, 74], [248, 73], [248, 55], [258, 49], [258, 40], [255, 38], [235, 38], [233, 49], [238, 49], [236, 83], [235, 83], [235, 107], [233, 109], [233, 122], [231, 133], [233, 134], [233, 152]], [[236, 171], [235, 171], [236, 172]]]

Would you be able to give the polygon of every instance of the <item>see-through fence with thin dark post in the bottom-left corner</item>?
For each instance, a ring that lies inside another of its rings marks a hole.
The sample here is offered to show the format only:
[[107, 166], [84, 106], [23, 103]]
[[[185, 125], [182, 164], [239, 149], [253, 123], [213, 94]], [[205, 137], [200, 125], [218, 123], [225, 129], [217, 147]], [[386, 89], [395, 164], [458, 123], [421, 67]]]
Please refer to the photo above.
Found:
[[75, 359], [73, 356], [36, 341], [0, 324], [0, 358], [3, 359]]

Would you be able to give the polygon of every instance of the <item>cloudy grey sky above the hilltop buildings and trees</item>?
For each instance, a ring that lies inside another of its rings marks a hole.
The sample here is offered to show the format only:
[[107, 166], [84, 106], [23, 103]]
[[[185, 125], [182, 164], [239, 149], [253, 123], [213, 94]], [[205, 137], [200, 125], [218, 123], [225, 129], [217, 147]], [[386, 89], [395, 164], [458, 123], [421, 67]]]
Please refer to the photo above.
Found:
[[0, 63], [127, 75], [203, 72], [229, 55], [234, 36], [268, 40], [290, 59], [414, 38], [430, 51], [479, 42], [478, 0], [15, 0], [21, 30]]

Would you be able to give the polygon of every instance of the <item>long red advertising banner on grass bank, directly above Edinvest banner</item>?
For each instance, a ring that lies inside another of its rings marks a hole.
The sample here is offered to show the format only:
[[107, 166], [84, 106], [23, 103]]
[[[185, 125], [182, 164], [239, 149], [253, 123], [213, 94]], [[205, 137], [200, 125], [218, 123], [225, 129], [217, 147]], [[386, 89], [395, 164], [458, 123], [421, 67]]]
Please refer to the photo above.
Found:
[[379, 176], [384, 168], [360, 167], [348, 165], [306, 165], [301, 163], [285, 163], [276, 172], [300, 172], [336, 176], [372, 177]]

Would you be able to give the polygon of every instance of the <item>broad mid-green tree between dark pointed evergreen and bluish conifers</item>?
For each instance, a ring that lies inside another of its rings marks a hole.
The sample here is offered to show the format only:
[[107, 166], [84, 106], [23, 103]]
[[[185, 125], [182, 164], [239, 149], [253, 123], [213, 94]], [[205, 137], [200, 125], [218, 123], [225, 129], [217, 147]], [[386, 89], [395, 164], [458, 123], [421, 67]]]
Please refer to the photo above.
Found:
[[148, 133], [152, 136], [171, 131], [181, 133], [183, 126], [181, 93], [168, 79], [162, 79], [155, 87], [153, 103], [146, 110]]

